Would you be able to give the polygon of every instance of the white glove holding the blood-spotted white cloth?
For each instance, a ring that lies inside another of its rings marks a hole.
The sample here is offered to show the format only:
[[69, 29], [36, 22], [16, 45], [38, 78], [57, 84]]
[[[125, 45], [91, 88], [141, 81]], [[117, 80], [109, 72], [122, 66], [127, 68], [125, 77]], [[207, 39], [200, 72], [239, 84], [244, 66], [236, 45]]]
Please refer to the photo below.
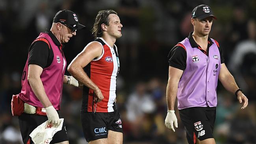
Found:
[[56, 109], [51, 105], [50, 107], [46, 107], [46, 115], [48, 117], [48, 122], [52, 124], [57, 124], [59, 126], [59, 123], [61, 120], [59, 119], [59, 114], [57, 113]]

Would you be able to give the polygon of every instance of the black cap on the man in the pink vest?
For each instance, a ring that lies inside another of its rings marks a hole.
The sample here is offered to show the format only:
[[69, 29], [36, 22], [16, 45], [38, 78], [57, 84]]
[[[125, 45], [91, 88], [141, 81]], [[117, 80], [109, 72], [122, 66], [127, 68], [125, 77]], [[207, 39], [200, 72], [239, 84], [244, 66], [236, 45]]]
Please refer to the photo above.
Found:
[[67, 26], [75, 30], [85, 28], [84, 25], [79, 24], [77, 15], [73, 11], [69, 11], [67, 9], [56, 13], [55, 17], [53, 18], [53, 22], [60, 22], [61, 24], [66, 24]]

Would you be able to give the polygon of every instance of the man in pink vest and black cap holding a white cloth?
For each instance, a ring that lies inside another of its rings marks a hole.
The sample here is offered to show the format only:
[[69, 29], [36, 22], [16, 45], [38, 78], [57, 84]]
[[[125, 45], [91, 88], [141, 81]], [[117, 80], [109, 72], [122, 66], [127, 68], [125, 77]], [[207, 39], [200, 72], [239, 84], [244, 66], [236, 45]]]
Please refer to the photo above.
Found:
[[[29, 50], [22, 73], [22, 90], [18, 95], [25, 103], [24, 113], [19, 116], [20, 131], [24, 144], [32, 144], [30, 133], [48, 120], [59, 125], [58, 111], [62, 98], [63, 83], [78, 87], [78, 81], [65, 76], [66, 59], [63, 54], [65, 43], [76, 35], [76, 30], [85, 26], [78, 23], [78, 17], [67, 9], [56, 13], [52, 28], [40, 33]], [[65, 124], [50, 144], [68, 144]]]

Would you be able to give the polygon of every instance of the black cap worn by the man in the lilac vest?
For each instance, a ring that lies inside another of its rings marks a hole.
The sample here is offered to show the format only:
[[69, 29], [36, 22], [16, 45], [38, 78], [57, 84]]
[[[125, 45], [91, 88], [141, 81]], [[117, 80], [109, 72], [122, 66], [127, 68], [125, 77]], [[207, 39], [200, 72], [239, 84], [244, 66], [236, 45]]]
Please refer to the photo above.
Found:
[[213, 17], [213, 18], [217, 19], [213, 15], [213, 11], [211, 10], [211, 7], [209, 7], [209, 6], [202, 4], [202, 5], [195, 7], [192, 11], [192, 18], [198, 18], [198, 19], [202, 20], [207, 17]]

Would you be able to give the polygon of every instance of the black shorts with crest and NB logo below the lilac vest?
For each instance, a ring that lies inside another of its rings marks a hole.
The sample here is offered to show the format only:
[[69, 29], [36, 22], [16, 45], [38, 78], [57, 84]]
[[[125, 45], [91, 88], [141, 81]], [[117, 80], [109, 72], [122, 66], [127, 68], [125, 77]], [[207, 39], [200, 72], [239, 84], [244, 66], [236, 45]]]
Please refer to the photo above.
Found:
[[195, 144], [196, 138], [213, 138], [216, 107], [189, 107], [179, 110], [179, 113], [189, 144]]

